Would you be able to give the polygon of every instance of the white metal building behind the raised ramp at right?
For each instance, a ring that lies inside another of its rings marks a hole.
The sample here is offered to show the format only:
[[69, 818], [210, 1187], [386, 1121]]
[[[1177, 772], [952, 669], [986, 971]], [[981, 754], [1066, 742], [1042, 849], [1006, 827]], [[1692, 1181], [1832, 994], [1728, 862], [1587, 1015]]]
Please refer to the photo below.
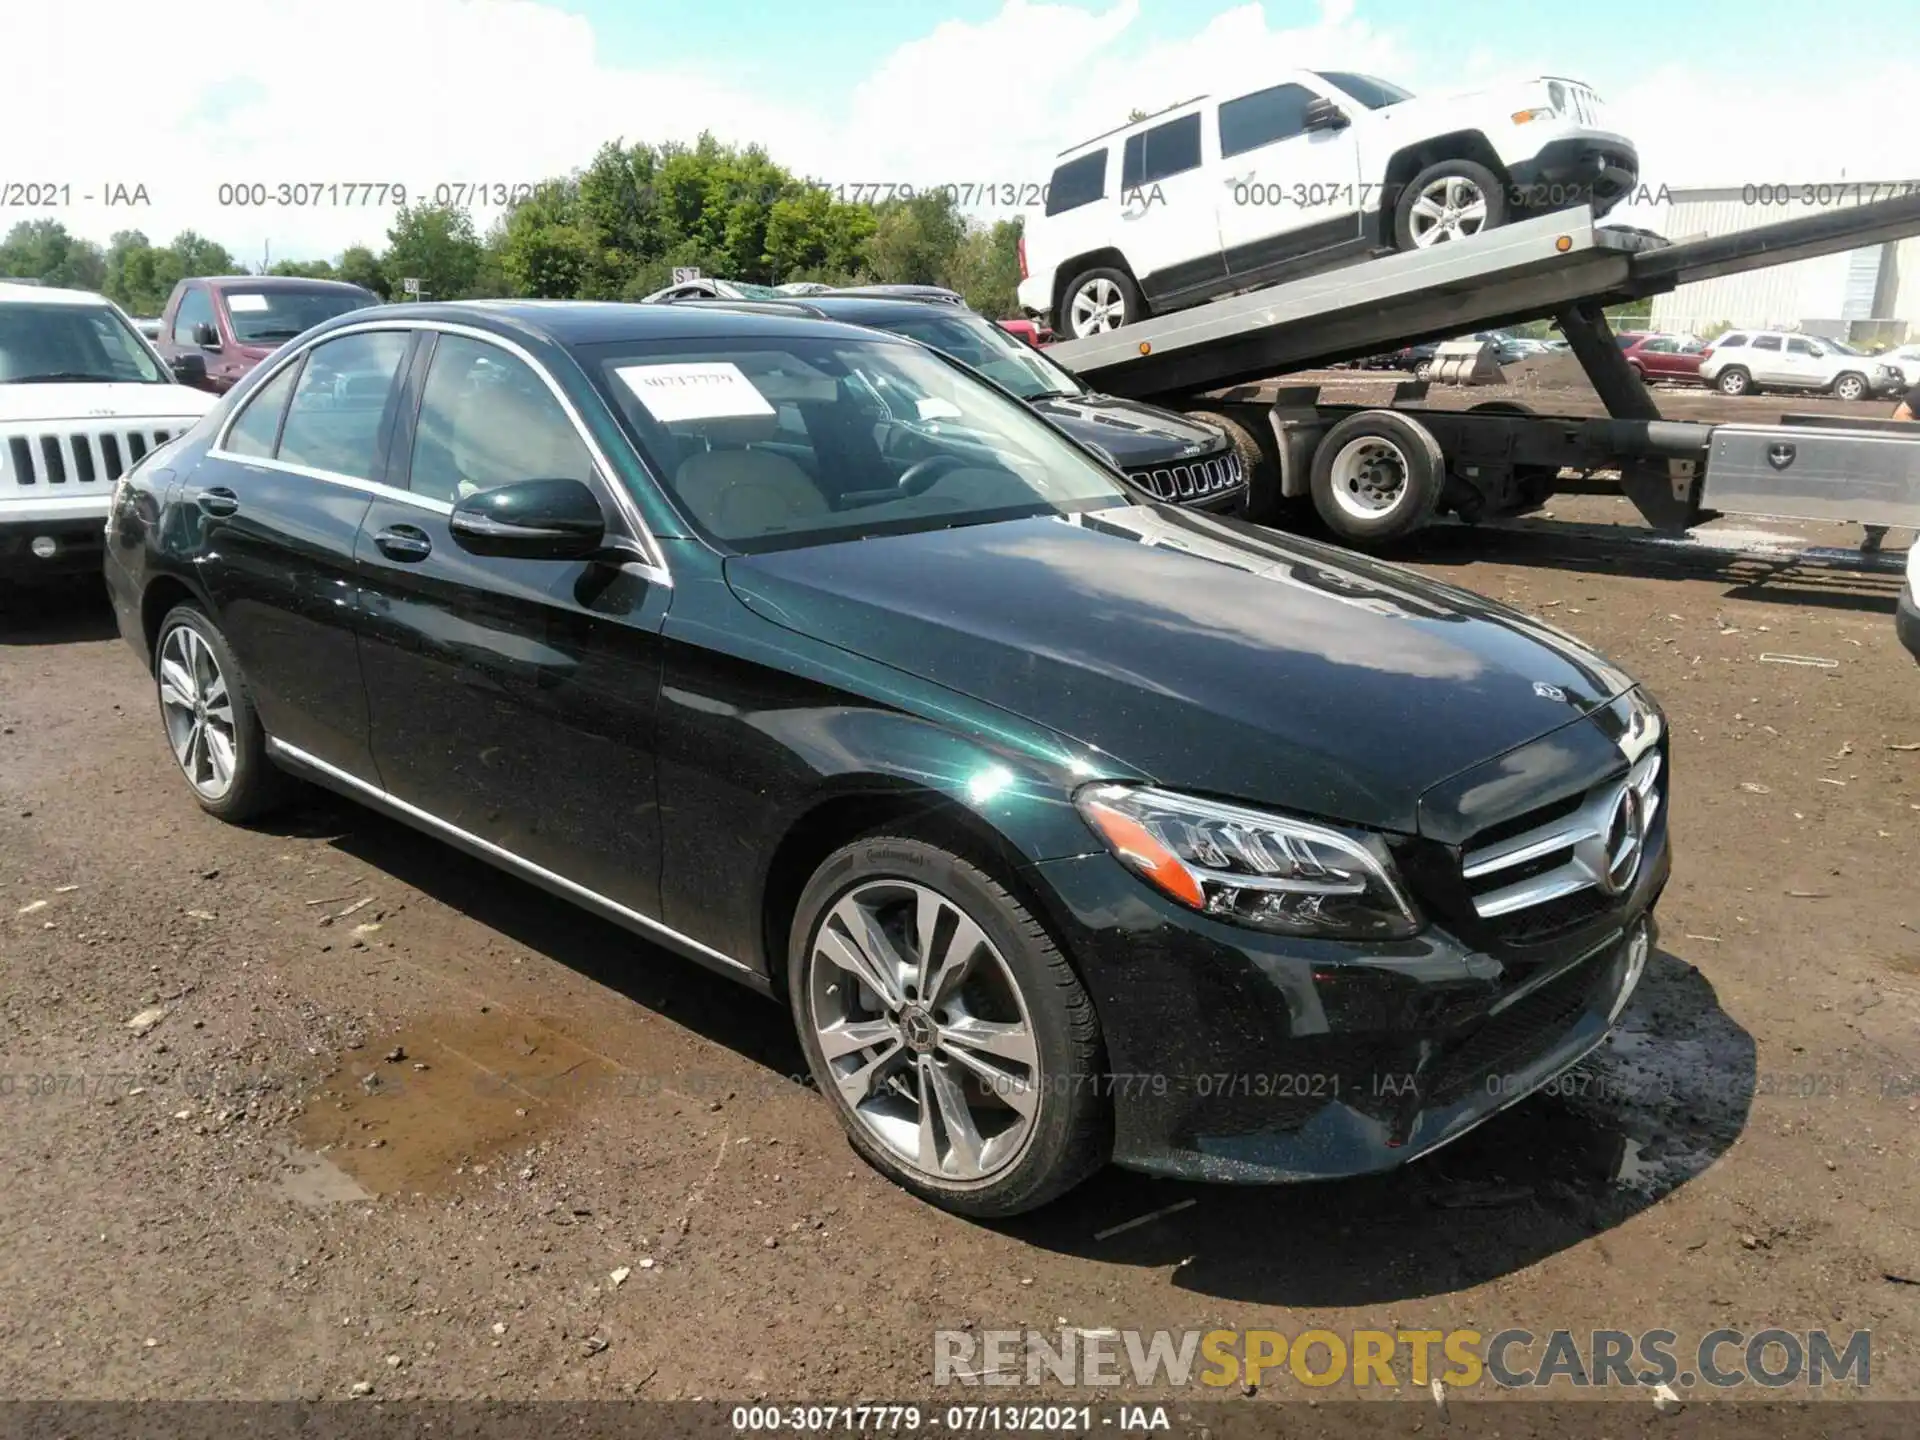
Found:
[[[1668, 188], [1668, 240], [1732, 234], [1816, 209], [1914, 194], [1920, 180], [1811, 180]], [[1713, 336], [1722, 324], [1809, 330], [1853, 340], [1920, 336], [1920, 236], [1680, 286], [1653, 298], [1653, 328]]]

